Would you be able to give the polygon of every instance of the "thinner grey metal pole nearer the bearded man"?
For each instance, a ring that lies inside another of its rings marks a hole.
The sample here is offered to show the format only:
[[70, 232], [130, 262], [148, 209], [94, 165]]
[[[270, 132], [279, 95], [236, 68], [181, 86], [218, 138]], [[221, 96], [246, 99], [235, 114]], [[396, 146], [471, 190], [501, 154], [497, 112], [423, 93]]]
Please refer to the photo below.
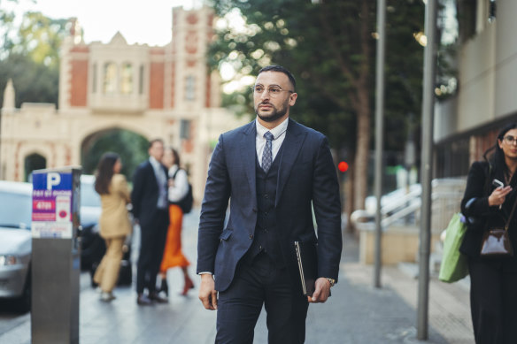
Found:
[[386, 55], [386, 0], [377, 0], [377, 57], [375, 73], [375, 180], [374, 189], [377, 199], [375, 211], [375, 266], [374, 287], [381, 287], [382, 267], [382, 143], [384, 122], [384, 59]]

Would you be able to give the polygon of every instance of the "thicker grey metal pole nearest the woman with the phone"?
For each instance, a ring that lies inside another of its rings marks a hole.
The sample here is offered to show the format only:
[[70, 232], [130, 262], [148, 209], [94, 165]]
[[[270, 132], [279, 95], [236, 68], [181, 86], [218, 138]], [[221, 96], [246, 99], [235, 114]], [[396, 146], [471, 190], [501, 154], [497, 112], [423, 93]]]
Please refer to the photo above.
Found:
[[419, 340], [428, 340], [428, 291], [429, 253], [431, 225], [431, 179], [433, 164], [433, 115], [435, 109], [435, 66], [436, 66], [436, 0], [426, 5], [425, 34], [428, 42], [424, 50], [424, 80], [421, 124], [421, 234], [418, 290]]

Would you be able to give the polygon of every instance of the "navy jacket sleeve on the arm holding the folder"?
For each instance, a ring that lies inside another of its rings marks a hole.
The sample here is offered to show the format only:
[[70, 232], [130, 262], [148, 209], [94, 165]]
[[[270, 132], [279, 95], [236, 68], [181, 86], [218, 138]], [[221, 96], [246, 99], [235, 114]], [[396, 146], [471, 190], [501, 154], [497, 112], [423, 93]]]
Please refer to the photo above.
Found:
[[313, 208], [318, 226], [318, 275], [337, 280], [343, 247], [341, 201], [327, 138], [320, 141], [314, 165]]

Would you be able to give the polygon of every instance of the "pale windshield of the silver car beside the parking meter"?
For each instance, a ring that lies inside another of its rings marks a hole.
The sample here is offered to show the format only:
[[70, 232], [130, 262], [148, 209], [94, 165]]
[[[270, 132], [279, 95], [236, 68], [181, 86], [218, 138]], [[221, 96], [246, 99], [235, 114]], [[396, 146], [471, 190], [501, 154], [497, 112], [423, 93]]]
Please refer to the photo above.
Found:
[[0, 191], [0, 226], [30, 229], [32, 196]]

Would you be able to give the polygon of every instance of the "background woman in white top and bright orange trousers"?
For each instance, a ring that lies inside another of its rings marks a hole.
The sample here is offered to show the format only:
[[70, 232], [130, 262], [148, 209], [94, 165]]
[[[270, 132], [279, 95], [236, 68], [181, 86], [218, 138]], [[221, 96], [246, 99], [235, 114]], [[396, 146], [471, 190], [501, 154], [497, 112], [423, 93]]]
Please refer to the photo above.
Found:
[[183, 226], [183, 210], [178, 203], [189, 192], [189, 177], [187, 172], [181, 166], [181, 159], [178, 151], [169, 147], [165, 150], [162, 163], [169, 170], [169, 229], [167, 230], [166, 248], [160, 266], [161, 287], [159, 291], [163, 291], [167, 296], [169, 287], [167, 285], [167, 270], [176, 266], [181, 268], [183, 272], [183, 291], [182, 295], [187, 295], [189, 289], [194, 287], [194, 282], [189, 277], [188, 267], [189, 260], [181, 251], [181, 228]]

